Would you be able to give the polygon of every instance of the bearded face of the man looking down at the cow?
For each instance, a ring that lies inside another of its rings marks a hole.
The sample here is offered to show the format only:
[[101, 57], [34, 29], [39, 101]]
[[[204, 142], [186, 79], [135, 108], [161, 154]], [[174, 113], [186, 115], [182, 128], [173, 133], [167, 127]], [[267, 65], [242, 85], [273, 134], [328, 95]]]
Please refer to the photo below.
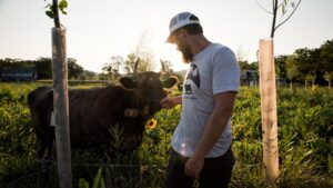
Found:
[[174, 33], [176, 50], [179, 50], [182, 53], [183, 62], [190, 63], [191, 61], [193, 61], [193, 53], [191, 51], [190, 46], [185, 41], [183, 32], [185, 31], [181, 30]]

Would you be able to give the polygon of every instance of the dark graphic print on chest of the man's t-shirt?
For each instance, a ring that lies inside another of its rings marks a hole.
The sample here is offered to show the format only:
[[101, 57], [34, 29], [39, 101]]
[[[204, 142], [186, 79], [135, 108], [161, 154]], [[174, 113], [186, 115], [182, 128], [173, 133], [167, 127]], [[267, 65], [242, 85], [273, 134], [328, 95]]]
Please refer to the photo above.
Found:
[[189, 73], [186, 76], [185, 85], [184, 85], [184, 91], [185, 95], [189, 95], [190, 97], [193, 97], [193, 88], [196, 87], [196, 89], [200, 88], [200, 75], [199, 69], [195, 65], [191, 65]]

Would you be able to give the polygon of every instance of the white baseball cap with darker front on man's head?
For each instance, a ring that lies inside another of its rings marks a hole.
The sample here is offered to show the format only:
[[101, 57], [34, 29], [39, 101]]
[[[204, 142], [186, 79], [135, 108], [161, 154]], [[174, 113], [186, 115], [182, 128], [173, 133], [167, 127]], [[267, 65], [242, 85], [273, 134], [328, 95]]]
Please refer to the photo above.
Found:
[[181, 12], [174, 16], [169, 24], [169, 37], [165, 42], [172, 43], [172, 32], [186, 24], [196, 23], [200, 24], [199, 18], [191, 12]]

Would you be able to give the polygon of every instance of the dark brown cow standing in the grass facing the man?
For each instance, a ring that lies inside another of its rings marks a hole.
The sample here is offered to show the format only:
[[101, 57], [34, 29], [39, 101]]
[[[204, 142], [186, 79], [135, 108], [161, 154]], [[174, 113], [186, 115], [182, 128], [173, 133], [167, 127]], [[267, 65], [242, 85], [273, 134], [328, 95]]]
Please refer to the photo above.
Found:
[[[169, 87], [175, 78], [165, 80]], [[158, 72], [140, 72], [120, 79], [121, 86], [69, 90], [70, 137], [72, 148], [108, 145], [112, 141], [110, 127], [122, 129], [121, 150], [135, 149], [142, 141], [145, 121], [161, 109], [167, 97]], [[165, 86], [165, 85], [164, 85]], [[165, 86], [167, 87], [167, 86]], [[51, 127], [53, 90], [40, 87], [28, 95], [32, 123], [37, 136], [37, 155], [52, 155], [54, 127]]]

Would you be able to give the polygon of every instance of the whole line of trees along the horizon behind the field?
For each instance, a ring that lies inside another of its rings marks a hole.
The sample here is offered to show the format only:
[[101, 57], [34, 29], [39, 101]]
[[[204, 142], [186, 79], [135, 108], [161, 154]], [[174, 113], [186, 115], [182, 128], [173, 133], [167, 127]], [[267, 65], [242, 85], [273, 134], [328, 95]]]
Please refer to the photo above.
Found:
[[[141, 46], [140, 46], [141, 47]], [[139, 46], [137, 49], [141, 49]], [[68, 59], [69, 79], [100, 79], [118, 80], [121, 75], [133, 72], [134, 62], [140, 59], [138, 71], [153, 70], [155, 65], [151, 52], [135, 51], [122, 56], [112, 56], [109, 62], [101, 68], [102, 73], [84, 70], [73, 58]], [[239, 58], [242, 70], [259, 70], [258, 61], [249, 63], [243, 58]], [[172, 72], [172, 63], [164, 61], [165, 69]], [[38, 79], [52, 79], [51, 58], [39, 58], [37, 60], [0, 59], [0, 70], [3, 68], [26, 69], [34, 67]], [[281, 55], [275, 57], [276, 77], [285, 79], [291, 85], [293, 82], [311, 85], [329, 85], [333, 79], [333, 39], [325, 41], [320, 48], [296, 49], [292, 55]]]

